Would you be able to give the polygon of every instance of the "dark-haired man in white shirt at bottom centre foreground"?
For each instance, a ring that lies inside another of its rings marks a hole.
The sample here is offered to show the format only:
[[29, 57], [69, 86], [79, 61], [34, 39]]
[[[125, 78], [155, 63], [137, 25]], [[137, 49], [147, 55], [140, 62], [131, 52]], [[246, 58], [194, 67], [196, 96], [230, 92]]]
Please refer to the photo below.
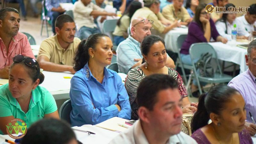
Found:
[[180, 132], [182, 98], [172, 77], [163, 74], [145, 77], [138, 87], [137, 101], [140, 120], [110, 144], [197, 144]]

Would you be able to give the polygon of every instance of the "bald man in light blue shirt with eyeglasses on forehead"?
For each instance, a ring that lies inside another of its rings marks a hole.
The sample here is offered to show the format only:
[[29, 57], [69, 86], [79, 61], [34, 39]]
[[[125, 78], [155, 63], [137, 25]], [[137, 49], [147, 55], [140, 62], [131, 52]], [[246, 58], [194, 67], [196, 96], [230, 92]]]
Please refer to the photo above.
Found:
[[[130, 24], [131, 35], [121, 42], [116, 50], [118, 70], [127, 74], [132, 68], [141, 65], [142, 54], [140, 43], [144, 37], [151, 35], [153, 20], [138, 17], [134, 18]], [[174, 61], [168, 56], [166, 66], [175, 68]]]

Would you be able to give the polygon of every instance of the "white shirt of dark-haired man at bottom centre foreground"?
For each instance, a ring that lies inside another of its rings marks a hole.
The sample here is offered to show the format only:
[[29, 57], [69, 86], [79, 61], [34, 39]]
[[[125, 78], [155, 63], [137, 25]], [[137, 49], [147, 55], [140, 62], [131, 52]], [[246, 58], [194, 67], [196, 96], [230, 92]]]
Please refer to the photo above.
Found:
[[[127, 131], [119, 134], [109, 144], [149, 144], [148, 140], [142, 130], [140, 120], [135, 123]], [[196, 140], [180, 132], [176, 135], [173, 135], [169, 138], [166, 144], [197, 144]]]

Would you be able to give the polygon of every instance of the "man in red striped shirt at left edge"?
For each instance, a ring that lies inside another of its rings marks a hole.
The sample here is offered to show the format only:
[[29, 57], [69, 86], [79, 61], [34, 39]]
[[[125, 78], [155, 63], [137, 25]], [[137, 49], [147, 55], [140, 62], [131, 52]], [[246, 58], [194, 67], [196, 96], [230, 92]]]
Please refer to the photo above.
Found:
[[35, 59], [28, 37], [19, 32], [20, 16], [14, 8], [0, 10], [0, 77], [9, 78], [12, 58], [21, 54]]

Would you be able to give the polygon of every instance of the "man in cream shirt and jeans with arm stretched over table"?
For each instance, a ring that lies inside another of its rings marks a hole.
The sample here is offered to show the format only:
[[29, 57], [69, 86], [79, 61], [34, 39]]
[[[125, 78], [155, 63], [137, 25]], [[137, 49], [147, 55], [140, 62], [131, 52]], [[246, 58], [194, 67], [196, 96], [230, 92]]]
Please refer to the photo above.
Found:
[[74, 4], [74, 20], [79, 30], [79, 38], [84, 40], [92, 34], [100, 33], [99, 28], [94, 23], [94, 18], [115, 15], [115, 13], [105, 12], [98, 5], [91, 3], [91, 0], [77, 1]]

